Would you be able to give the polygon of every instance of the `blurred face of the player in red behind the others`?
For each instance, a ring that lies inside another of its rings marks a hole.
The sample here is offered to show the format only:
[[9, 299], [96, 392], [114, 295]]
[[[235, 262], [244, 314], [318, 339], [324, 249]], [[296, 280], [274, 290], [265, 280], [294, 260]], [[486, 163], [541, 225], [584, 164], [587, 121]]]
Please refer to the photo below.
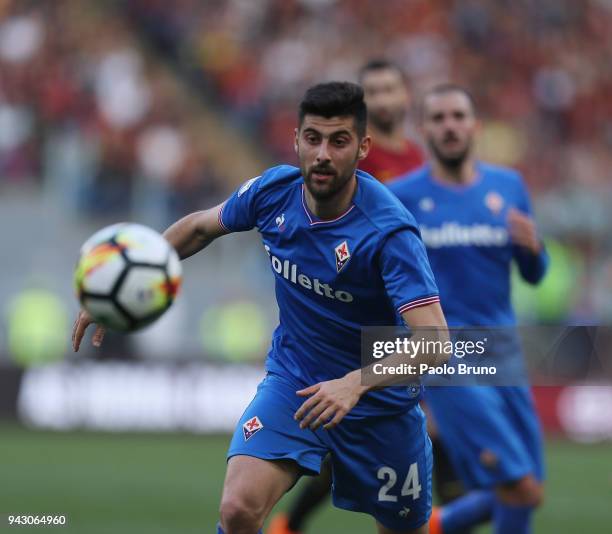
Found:
[[390, 132], [403, 123], [410, 106], [410, 94], [396, 69], [366, 72], [361, 85], [370, 124], [383, 132]]

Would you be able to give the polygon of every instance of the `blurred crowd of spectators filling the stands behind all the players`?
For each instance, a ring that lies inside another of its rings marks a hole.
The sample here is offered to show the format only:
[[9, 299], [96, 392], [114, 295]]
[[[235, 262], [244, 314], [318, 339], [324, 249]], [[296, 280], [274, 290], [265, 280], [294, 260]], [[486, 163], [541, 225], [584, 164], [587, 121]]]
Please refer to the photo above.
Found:
[[609, 321], [611, 26], [610, 0], [4, 0], [0, 186], [163, 226], [235, 184], [200, 106], [294, 161], [303, 90], [384, 56], [417, 97], [469, 87], [480, 153], [524, 173], [558, 260], [538, 319]]

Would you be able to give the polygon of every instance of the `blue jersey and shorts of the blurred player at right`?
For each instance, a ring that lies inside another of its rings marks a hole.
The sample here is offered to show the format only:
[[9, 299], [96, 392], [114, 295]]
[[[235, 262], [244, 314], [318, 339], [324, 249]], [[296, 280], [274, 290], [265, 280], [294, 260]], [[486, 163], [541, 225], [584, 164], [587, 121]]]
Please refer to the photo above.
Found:
[[[484, 163], [476, 168], [476, 180], [465, 186], [438, 182], [425, 166], [389, 187], [420, 225], [449, 326], [512, 326], [512, 261], [523, 278], [537, 283], [548, 258], [543, 249], [537, 256], [530, 254], [509, 237], [508, 210], [531, 213], [521, 176]], [[518, 337], [512, 329], [507, 333], [494, 348], [495, 356], [520, 355]], [[543, 478], [542, 437], [533, 399], [520, 364], [506, 363], [510, 367], [504, 373], [511, 380], [518, 377], [512, 387], [427, 390], [445, 449], [468, 487], [493, 487], [528, 474]], [[480, 460], [485, 451], [494, 455], [494, 464]]]

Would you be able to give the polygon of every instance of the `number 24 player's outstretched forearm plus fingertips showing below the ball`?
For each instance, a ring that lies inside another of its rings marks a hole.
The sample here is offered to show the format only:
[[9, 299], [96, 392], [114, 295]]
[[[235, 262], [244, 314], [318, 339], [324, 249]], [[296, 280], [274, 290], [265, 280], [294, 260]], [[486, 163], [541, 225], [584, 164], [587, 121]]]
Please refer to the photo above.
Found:
[[[219, 223], [219, 212], [222, 204], [208, 210], [196, 211], [182, 219], [179, 219], [165, 232], [164, 237], [176, 249], [181, 259], [193, 256], [217, 237], [227, 234], [227, 230]], [[81, 310], [72, 328], [72, 348], [78, 352], [85, 331], [93, 318], [85, 310]], [[94, 347], [102, 345], [106, 330], [103, 326], [97, 326], [91, 339]]]

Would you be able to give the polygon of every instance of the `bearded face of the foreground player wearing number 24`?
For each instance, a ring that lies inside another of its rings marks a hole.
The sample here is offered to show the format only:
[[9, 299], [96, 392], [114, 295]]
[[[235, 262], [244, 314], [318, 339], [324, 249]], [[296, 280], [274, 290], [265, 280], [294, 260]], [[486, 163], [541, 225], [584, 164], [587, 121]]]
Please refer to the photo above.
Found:
[[369, 148], [370, 138], [359, 139], [353, 117], [306, 115], [295, 130], [295, 150], [304, 183], [317, 200], [331, 198], [342, 190]]

